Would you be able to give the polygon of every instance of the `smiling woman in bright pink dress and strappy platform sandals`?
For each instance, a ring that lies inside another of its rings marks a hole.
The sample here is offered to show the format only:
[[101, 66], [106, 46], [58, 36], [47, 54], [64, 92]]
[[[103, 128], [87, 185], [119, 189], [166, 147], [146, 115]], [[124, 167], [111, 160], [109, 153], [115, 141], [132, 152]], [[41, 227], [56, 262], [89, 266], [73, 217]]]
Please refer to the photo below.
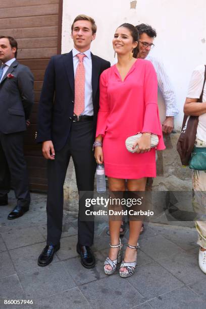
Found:
[[[158, 82], [152, 64], [136, 59], [138, 32], [131, 24], [117, 28], [113, 47], [118, 63], [100, 76], [100, 99], [95, 139], [95, 159], [104, 162], [110, 191], [144, 191], [147, 177], [156, 177], [156, 149], [150, 148], [151, 133], [159, 136], [157, 149], [165, 149], [159, 119]], [[125, 139], [142, 132], [135, 153], [125, 147]], [[102, 146], [101, 146], [102, 145]], [[122, 258], [121, 218], [110, 220], [110, 251], [105, 273], [111, 275]], [[137, 259], [137, 241], [142, 221], [130, 221], [130, 234], [120, 276], [133, 274]]]

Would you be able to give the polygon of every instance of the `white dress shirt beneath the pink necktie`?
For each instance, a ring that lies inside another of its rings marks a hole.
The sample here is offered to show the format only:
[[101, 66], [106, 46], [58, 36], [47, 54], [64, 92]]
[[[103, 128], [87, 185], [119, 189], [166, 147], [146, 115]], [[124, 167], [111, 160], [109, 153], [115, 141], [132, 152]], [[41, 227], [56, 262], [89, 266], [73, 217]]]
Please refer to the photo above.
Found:
[[79, 59], [77, 54], [84, 54], [86, 57], [83, 58], [83, 64], [85, 68], [85, 90], [84, 90], [84, 112], [81, 115], [93, 116], [93, 101], [92, 101], [92, 85], [91, 85], [91, 74], [92, 74], [92, 62], [90, 49], [84, 53], [80, 53], [76, 48], [72, 49], [73, 54], [73, 65], [74, 65], [74, 76], [76, 74]]

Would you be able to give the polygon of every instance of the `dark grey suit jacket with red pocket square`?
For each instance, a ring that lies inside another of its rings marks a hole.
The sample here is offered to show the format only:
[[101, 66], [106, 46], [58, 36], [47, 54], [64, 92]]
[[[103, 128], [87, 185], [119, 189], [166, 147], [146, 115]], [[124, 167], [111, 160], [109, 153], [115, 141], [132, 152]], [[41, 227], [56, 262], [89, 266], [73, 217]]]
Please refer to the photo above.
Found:
[[[10, 73], [12, 78], [8, 78]], [[15, 60], [0, 83], [0, 132], [26, 130], [26, 120], [34, 102], [33, 82], [30, 69]]]

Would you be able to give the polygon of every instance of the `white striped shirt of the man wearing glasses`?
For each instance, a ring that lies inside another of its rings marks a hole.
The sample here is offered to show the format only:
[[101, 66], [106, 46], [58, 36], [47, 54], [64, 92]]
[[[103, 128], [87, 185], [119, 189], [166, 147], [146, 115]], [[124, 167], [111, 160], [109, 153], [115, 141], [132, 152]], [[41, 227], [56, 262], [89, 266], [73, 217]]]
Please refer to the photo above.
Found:
[[[157, 78], [158, 78], [158, 87], [161, 90], [165, 106], [166, 106], [166, 116], [175, 116], [179, 113], [177, 105], [176, 105], [176, 95], [171, 86], [170, 79], [165, 71], [165, 67], [163, 63], [155, 57], [147, 56], [145, 60], [149, 60], [153, 67], [156, 70]], [[113, 64], [117, 63], [117, 59], [115, 59]]]

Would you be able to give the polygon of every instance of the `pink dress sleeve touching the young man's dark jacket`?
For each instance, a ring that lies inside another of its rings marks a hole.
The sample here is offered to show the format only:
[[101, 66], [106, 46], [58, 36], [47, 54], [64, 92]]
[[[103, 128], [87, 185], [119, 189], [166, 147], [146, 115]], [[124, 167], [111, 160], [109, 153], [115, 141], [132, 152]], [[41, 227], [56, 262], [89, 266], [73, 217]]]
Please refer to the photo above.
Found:
[[99, 134], [101, 134], [102, 137], [105, 136], [105, 131], [107, 129], [107, 119], [110, 114], [108, 91], [107, 91], [108, 70], [105, 70], [104, 72], [101, 73], [99, 80], [99, 111], [97, 116], [96, 137]]

